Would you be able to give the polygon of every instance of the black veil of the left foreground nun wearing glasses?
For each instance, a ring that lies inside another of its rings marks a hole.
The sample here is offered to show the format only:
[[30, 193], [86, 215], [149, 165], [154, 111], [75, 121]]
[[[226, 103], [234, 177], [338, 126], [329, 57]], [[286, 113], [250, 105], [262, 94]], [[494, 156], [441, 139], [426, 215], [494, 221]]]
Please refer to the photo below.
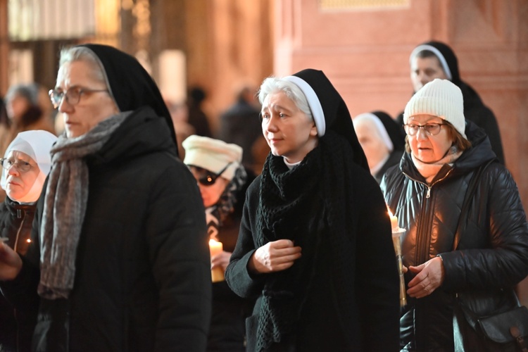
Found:
[[[176, 133], [172, 118], [161, 92], [134, 56], [115, 49], [113, 46], [101, 44], [82, 44], [94, 52], [101, 61], [108, 78], [110, 93], [118, 104], [120, 111], [135, 111], [142, 106], [150, 106], [160, 117], [165, 118], [175, 146]], [[176, 148], [176, 153], [177, 153]]]

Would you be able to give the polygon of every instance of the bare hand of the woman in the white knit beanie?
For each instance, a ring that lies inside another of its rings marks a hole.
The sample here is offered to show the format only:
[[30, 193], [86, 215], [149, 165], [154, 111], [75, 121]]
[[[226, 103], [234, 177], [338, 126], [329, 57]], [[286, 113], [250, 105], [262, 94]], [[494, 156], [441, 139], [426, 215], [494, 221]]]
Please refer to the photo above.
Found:
[[407, 294], [414, 298], [429, 296], [444, 282], [444, 263], [435, 257], [422, 265], [410, 266], [409, 270], [417, 275], [410, 280]]

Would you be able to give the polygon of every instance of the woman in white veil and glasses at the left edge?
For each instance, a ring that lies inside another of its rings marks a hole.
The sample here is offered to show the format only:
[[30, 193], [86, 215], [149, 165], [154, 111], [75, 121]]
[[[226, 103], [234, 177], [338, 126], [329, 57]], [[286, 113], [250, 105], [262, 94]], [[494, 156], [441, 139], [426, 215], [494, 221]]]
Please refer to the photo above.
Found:
[[[43, 130], [20, 132], [0, 159], [0, 186], [7, 194], [0, 204], [0, 237], [21, 256], [31, 242], [34, 210], [51, 168], [49, 151], [56, 139]], [[23, 307], [15, 311], [0, 295], [0, 351], [31, 351], [35, 318]]]

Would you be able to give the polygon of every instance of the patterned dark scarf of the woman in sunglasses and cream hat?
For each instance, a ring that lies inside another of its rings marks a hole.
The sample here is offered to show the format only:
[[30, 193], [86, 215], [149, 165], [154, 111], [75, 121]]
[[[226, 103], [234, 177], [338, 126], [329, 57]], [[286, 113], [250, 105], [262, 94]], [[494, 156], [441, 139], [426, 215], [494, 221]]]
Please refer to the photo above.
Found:
[[225, 187], [218, 202], [206, 208], [207, 234], [210, 239], [218, 241], [218, 229], [222, 226], [222, 222], [233, 213], [234, 205], [237, 203], [237, 193], [246, 184], [247, 177], [244, 166], [239, 165], [234, 171], [233, 179]]

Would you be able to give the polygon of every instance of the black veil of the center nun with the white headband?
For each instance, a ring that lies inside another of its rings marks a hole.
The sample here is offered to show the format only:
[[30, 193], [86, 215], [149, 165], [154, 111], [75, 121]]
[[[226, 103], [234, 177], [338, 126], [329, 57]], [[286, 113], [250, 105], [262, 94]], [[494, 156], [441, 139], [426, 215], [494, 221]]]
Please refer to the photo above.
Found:
[[367, 158], [356, 136], [350, 112], [332, 82], [328, 80], [322, 71], [314, 70], [313, 68], [299, 71], [294, 73], [293, 76], [301, 78], [314, 90], [325, 114], [326, 130], [332, 130], [345, 137], [352, 146], [353, 161], [365, 168], [365, 170], [369, 170]]

